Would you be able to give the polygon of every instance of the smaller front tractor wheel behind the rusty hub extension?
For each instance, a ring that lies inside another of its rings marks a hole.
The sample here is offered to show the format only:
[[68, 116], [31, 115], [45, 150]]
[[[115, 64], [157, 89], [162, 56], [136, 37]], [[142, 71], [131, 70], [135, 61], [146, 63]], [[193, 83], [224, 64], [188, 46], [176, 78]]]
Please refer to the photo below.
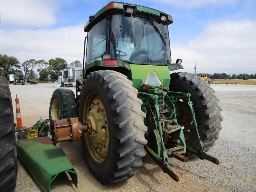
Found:
[[[63, 99], [64, 98], [64, 99]], [[71, 99], [71, 102], [70, 102]], [[64, 103], [62, 103], [64, 101]], [[61, 109], [63, 105], [63, 111]], [[49, 108], [49, 118], [58, 120], [64, 118], [72, 118], [76, 116], [74, 106], [76, 105], [76, 98], [74, 92], [70, 89], [56, 89], [52, 93]]]

